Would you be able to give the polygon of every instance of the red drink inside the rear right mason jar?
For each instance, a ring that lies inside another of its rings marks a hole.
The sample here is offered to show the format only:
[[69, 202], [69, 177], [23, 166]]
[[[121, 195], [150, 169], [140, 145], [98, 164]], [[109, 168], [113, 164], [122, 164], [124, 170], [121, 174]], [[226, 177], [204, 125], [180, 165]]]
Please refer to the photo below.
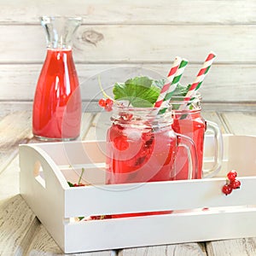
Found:
[[[201, 118], [201, 113], [199, 111], [191, 111], [182, 114], [180, 112], [175, 113], [172, 129], [179, 134], [190, 137], [194, 141], [198, 160], [198, 172], [193, 173], [191, 178], [201, 178], [204, 134], [206, 130], [206, 122]], [[188, 179], [189, 161], [187, 151], [184, 148], [177, 148], [175, 168], [176, 173], [172, 177], [172, 180]]]

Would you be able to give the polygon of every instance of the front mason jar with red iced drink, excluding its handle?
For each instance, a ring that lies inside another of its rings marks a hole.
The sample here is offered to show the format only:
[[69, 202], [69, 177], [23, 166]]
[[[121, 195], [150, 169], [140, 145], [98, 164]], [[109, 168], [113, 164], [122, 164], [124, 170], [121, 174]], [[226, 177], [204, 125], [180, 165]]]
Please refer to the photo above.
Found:
[[[150, 111], [152, 108], [113, 108], [113, 125], [107, 134], [108, 184], [170, 180], [177, 149], [172, 113], [150, 116]], [[170, 212], [115, 214], [112, 218]]]

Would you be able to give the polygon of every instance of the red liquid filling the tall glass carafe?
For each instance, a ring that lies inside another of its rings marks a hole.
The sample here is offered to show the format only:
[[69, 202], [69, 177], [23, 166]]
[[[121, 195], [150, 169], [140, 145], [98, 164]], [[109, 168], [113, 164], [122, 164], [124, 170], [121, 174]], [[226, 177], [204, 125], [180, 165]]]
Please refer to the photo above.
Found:
[[79, 137], [81, 96], [71, 49], [48, 49], [33, 104], [36, 137]]

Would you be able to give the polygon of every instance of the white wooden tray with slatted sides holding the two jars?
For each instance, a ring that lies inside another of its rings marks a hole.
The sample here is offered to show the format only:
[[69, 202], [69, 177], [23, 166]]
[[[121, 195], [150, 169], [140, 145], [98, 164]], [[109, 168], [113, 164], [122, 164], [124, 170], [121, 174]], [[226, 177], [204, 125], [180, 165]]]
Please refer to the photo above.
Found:
[[[65, 253], [256, 236], [256, 137], [224, 136], [218, 177], [104, 185], [104, 142], [20, 145], [20, 194]], [[213, 139], [206, 137], [205, 165]], [[81, 168], [84, 183], [77, 182]], [[241, 189], [226, 196], [236, 169]], [[207, 210], [202, 210], [203, 208]], [[174, 210], [172, 214], [73, 221], [79, 216]]]

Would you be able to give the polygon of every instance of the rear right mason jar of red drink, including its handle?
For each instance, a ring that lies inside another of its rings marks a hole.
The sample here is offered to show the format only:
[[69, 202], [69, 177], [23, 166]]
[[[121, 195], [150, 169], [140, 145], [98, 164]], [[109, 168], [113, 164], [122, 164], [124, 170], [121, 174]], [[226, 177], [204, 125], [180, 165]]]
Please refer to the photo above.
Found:
[[[223, 158], [222, 134], [217, 124], [205, 120], [201, 115], [201, 94], [195, 96], [172, 96], [172, 129], [184, 136], [190, 137], [196, 148], [198, 158], [198, 172], [195, 178], [212, 177], [219, 172]], [[212, 133], [214, 137], [214, 155], [212, 166], [203, 169], [203, 151], [205, 133]], [[177, 149], [177, 161], [175, 162], [175, 179], [186, 179], [189, 172], [189, 159], [184, 148]]]

